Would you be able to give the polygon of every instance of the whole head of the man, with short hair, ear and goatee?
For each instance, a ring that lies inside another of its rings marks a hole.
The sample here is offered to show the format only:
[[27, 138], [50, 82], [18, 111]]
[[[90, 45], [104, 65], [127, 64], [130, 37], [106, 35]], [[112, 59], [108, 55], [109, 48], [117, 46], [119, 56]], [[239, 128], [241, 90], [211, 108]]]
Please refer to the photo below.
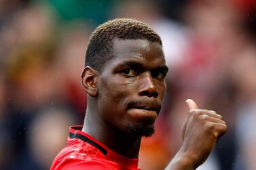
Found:
[[115, 129], [152, 135], [167, 71], [162, 41], [151, 27], [131, 19], [106, 22], [94, 30], [86, 51], [82, 84], [94, 105], [88, 108]]

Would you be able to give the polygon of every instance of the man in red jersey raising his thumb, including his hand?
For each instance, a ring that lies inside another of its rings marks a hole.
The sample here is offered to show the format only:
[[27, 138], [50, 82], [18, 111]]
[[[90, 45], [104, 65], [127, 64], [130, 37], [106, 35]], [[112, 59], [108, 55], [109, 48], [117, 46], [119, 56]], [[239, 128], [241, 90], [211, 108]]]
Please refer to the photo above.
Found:
[[[168, 72], [162, 41], [147, 24], [115, 19], [92, 33], [81, 74], [88, 106], [84, 126], [69, 129], [51, 169], [139, 169], [142, 136], [154, 132]], [[227, 126], [187, 100], [183, 145], [166, 169], [196, 169]]]

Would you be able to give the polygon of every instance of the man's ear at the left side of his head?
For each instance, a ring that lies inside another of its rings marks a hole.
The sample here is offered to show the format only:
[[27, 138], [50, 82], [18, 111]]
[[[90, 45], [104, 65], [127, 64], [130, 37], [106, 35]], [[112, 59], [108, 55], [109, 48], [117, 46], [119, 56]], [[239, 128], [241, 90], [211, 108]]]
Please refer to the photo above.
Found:
[[86, 66], [81, 72], [81, 86], [88, 95], [96, 97], [98, 93], [98, 72], [90, 66]]

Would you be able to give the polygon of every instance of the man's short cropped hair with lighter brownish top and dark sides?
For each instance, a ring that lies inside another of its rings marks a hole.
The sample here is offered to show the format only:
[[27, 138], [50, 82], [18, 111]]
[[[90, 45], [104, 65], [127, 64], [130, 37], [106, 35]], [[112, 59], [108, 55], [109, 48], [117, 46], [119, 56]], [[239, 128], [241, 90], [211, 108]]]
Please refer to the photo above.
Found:
[[117, 18], [98, 26], [90, 36], [85, 66], [101, 72], [113, 55], [113, 39], [147, 39], [162, 45], [162, 40], [149, 25], [138, 20]]

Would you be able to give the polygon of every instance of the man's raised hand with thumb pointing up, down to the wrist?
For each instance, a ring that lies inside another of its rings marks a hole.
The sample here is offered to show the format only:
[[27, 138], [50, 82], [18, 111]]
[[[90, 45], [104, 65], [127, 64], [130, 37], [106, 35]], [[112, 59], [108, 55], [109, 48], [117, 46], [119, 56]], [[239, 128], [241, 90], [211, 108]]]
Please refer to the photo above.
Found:
[[181, 152], [189, 156], [194, 167], [198, 167], [213, 150], [219, 137], [227, 131], [223, 117], [212, 110], [200, 110], [188, 99], [189, 114], [183, 127]]

